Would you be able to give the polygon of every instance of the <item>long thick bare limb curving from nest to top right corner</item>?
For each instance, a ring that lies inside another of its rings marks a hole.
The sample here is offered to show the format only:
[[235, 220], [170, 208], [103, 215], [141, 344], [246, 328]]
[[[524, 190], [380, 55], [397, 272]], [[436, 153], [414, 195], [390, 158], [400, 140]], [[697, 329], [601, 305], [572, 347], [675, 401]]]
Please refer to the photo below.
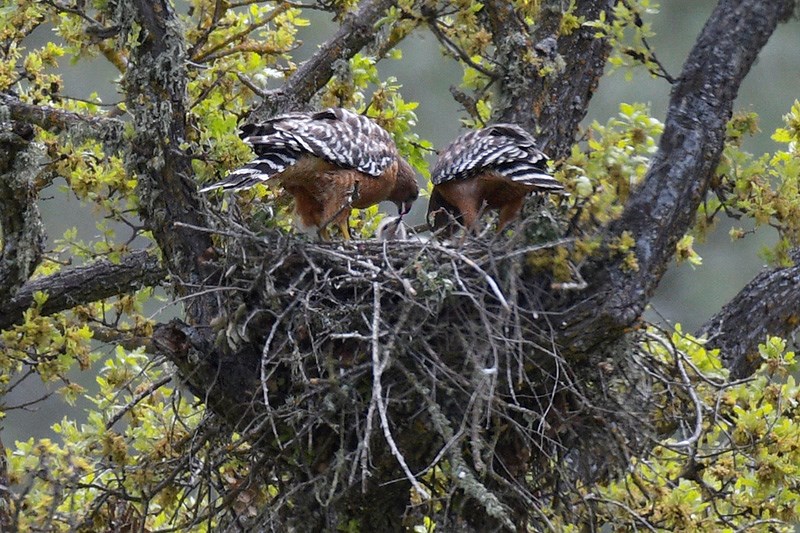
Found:
[[598, 258], [586, 269], [589, 288], [560, 305], [561, 341], [570, 351], [586, 353], [618, 339], [641, 316], [705, 196], [739, 85], [793, 7], [791, 0], [717, 5], [673, 90], [645, 181], [606, 230], [606, 244], [632, 235], [638, 270], [625, 269], [619, 256]]

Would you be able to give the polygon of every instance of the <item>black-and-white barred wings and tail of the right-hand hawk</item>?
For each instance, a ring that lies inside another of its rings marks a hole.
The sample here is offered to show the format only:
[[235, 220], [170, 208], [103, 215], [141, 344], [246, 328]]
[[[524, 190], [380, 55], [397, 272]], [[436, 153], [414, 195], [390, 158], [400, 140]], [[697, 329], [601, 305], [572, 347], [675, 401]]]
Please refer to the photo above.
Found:
[[494, 124], [465, 133], [445, 148], [431, 172], [431, 180], [440, 185], [494, 171], [542, 191], [563, 189], [547, 173], [547, 160], [528, 132], [516, 124]]

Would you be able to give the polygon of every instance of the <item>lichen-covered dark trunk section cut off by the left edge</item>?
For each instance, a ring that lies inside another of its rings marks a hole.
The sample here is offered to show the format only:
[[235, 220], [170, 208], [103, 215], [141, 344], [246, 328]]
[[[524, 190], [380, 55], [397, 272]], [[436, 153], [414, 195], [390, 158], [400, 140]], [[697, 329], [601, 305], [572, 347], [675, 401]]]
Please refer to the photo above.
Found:
[[[16, 126], [32, 136], [30, 127]], [[14, 296], [42, 258], [45, 233], [34, 185], [42, 158], [41, 150], [11, 128], [0, 131], [0, 302]]]

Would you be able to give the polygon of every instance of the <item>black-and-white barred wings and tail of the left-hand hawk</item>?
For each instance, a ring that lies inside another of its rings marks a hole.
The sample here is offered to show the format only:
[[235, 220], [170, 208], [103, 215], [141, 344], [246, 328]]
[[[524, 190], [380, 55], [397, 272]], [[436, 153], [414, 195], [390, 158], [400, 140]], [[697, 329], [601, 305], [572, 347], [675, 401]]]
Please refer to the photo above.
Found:
[[373, 120], [341, 108], [318, 113], [289, 113], [242, 128], [242, 138], [256, 154], [200, 192], [239, 190], [266, 181], [303, 157], [317, 157], [337, 167], [378, 177], [397, 158], [389, 132]]

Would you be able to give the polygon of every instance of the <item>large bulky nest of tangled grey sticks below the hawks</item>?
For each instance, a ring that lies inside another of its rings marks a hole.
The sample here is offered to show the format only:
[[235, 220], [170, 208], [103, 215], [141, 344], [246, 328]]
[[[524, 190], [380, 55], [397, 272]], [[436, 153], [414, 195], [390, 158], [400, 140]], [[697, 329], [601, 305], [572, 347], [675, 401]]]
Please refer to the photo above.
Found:
[[449, 243], [214, 230], [220, 373], [246, 369], [227, 419], [279, 487], [251, 525], [280, 527], [309, 498], [335, 528], [337, 503], [400, 481], [388, 486], [401, 509], [418, 504], [412, 524], [459, 509], [515, 529], [526, 509], [541, 526], [682, 423], [668, 414], [687, 401], [674, 362], [644, 354], [641, 335], [562, 356], [543, 304], [558, 291], [528, 261], [568, 246], [548, 220]]

